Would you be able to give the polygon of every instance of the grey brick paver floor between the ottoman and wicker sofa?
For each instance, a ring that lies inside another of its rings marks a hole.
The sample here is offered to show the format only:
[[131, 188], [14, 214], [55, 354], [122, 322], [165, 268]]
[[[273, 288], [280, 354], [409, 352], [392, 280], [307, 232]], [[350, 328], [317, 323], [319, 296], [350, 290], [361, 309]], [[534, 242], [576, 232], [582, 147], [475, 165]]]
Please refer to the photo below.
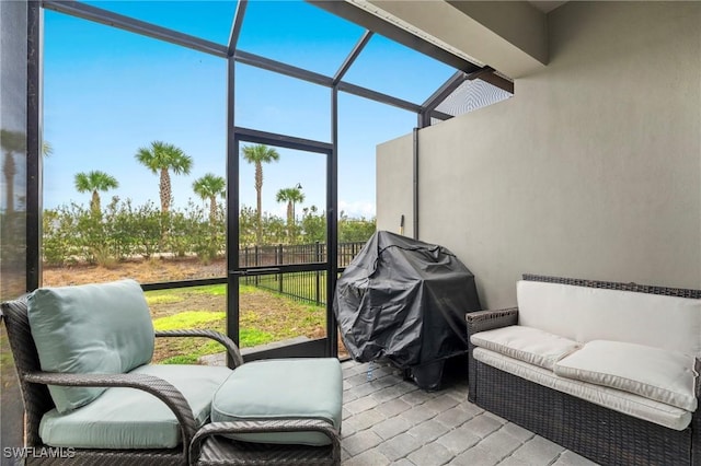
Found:
[[467, 400], [468, 384], [425, 392], [388, 364], [343, 363], [343, 466], [595, 466]]

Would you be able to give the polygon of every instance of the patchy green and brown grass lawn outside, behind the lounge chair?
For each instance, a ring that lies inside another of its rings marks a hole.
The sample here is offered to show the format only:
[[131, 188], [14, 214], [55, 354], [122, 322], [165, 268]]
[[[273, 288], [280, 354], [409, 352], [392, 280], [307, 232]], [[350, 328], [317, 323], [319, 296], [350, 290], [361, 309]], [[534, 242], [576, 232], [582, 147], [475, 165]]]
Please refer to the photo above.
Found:
[[[240, 347], [248, 348], [325, 333], [325, 308], [299, 303], [255, 287], [241, 286]], [[226, 333], [226, 286], [182, 288], [146, 292], [157, 330], [208, 328]], [[222, 347], [206, 338], [158, 338], [154, 362], [194, 363]]]

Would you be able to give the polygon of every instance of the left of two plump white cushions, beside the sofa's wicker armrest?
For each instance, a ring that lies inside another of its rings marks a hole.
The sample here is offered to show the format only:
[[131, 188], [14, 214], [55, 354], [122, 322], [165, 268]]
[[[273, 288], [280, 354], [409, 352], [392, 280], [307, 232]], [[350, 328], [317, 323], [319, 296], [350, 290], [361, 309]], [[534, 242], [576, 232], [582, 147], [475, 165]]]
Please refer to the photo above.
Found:
[[520, 325], [480, 331], [472, 335], [470, 341], [551, 371], [555, 362], [582, 346], [574, 340]]

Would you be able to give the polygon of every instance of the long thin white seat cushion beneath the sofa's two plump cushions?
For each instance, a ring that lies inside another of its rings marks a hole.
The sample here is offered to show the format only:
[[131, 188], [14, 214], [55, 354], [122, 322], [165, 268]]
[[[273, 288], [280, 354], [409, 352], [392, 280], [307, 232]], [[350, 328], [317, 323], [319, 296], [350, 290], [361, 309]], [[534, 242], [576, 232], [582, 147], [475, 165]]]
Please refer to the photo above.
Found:
[[573, 378], [564, 378], [547, 369], [484, 348], [475, 348], [473, 357], [478, 361], [527, 381], [669, 429], [685, 430], [691, 423], [691, 412], [686, 409], [665, 405], [628, 392], [588, 384]]

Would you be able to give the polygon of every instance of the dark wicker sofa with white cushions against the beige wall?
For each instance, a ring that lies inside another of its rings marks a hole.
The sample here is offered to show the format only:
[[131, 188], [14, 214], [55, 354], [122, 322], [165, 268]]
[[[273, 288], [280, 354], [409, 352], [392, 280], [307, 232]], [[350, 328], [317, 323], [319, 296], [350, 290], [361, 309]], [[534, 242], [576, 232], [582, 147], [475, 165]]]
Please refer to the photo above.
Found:
[[524, 276], [470, 313], [469, 398], [605, 465], [701, 465], [701, 290]]

